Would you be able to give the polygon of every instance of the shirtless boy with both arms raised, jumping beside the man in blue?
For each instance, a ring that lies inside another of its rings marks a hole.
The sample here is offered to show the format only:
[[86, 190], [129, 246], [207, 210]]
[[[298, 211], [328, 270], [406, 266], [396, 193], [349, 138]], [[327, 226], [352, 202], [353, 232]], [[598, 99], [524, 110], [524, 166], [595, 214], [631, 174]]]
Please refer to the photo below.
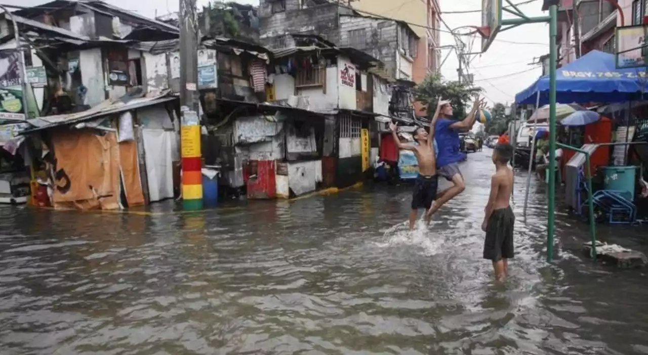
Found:
[[[416, 155], [419, 163], [419, 176], [414, 183], [414, 191], [411, 196], [411, 211], [410, 211], [410, 231], [414, 229], [416, 217], [420, 208], [428, 211], [432, 207], [432, 201], [437, 198], [437, 187], [439, 186], [439, 179], [437, 177], [437, 161], [434, 153], [434, 122], [435, 118], [439, 115], [441, 106], [448, 103], [439, 99], [437, 111], [434, 119], [430, 121], [430, 133], [423, 127], [419, 127], [414, 132], [414, 139], [417, 145], [402, 144], [398, 134], [396, 133], [397, 125], [390, 124], [391, 134], [399, 150], [411, 150]], [[425, 217], [426, 221], [430, 220], [430, 216]]]

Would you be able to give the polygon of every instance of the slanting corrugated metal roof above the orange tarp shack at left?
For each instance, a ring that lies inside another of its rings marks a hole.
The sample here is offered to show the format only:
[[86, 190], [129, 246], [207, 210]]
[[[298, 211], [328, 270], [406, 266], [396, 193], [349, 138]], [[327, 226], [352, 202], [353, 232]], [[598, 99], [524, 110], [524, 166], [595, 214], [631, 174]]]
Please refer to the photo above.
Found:
[[35, 126], [36, 128], [25, 130], [20, 134], [29, 134], [40, 130], [47, 130], [54, 127], [84, 122], [86, 120], [97, 119], [99, 117], [113, 115], [115, 113], [121, 113], [124, 111], [129, 111], [131, 109], [161, 104], [163, 102], [177, 99], [178, 97], [171, 96], [168, 92], [166, 92], [152, 97], [133, 98], [128, 102], [123, 102], [122, 100], [106, 100], [91, 109], [87, 109], [86, 111], [68, 113], [66, 115], [44, 116], [38, 117], [37, 119], [27, 120], [29, 124]]

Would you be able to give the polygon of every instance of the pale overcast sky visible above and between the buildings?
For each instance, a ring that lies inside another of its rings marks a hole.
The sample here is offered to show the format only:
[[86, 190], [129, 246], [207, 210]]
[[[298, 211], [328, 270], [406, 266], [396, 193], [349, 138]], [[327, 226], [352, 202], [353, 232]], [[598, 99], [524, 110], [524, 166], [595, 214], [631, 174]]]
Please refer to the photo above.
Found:
[[[104, 0], [112, 5], [136, 11], [139, 14], [154, 17], [161, 16], [168, 12], [178, 10], [179, 0]], [[422, 1], [422, 0], [399, 0], [399, 1]], [[43, 0], [0, 0], [0, 3], [8, 5], [34, 6], [47, 3]], [[208, 0], [198, 0], [198, 5], [208, 3]], [[239, 3], [258, 5], [259, 0], [238, 0]], [[480, 25], [481, 13], [464, 14], [443, 14], [443, 12], [480, 10], [481, 0], [439, 0], [443, 19], [451, 29], [466, 25]], [[527, 16], [541, 16], [540, 6], [542, 1], [522, 5], [520, 8]], [[387, 9], [389, 10], [389, 9]], [[380, 9], [374, 10], [380, 13]], [[389, 14], [382, 14], [389, 16]], [[511, 15], [504, 12], [504, 17]], [[422, 24], [426, 25], [426, 24]], [[441, 27], [446, 29], [445, 27]], [[470, 29], [459, 29], [458, 32], [468, 32]], [[469, 42], [469, 37], [463, 37]], [[529, 44], [520, 44], [529, 43]], [[489, 102], [513, 102], [515, 94], [531, 85], [538, 78], [541, 69], [533, 69], [528, 65], [549, 51], [549, 27], [546, 24], [522, 25], [515, 29], [507, 30], [498, 34], [497, 39], [491, 48], [481, 56], [476, 56], [471, 62], [469, 73], [475, 74], [475, 84], [483, 87], [485, 96]], [[441, 33], [441, 45], [454, 44], [451, 34]], [[474, 40], [473, 51], [481, 50], [481, 39]], [[442, 51], [442, 59], [448, 50]], [[441, 68], [445, 78], [456, 80], [457, 78], [457, 56], [454, 52]], [[526, 73], [520, 73], [527, 71]], [[519, 73], [519, 74], [516, 74]]]

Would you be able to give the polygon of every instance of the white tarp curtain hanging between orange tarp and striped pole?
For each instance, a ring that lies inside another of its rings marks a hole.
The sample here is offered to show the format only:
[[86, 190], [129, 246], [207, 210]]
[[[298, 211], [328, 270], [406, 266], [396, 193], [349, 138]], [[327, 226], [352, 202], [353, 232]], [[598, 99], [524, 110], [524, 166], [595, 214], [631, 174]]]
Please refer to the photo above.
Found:
[[148, 197], [151, 202], [173, 198], [172, 147], [175, 133], [144, 128]]

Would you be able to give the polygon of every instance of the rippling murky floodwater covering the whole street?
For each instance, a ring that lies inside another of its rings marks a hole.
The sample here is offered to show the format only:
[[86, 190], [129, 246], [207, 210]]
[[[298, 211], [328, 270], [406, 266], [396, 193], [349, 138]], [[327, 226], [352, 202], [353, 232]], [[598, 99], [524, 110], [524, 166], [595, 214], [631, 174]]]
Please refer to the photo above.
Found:
[[[517, 255], [492, 282], [492, 170], [471, 154], [465, 192], [415, 233], [407, 186], [148, 216], [0, 209], [0, 354], [648, 354], [645, 275], [581, 257], [586, 225], [564, 215], [547, 264], [544, 187], [524, 218], [522, 173]], [[600, 231], [647, 251], [642, 234]]]

